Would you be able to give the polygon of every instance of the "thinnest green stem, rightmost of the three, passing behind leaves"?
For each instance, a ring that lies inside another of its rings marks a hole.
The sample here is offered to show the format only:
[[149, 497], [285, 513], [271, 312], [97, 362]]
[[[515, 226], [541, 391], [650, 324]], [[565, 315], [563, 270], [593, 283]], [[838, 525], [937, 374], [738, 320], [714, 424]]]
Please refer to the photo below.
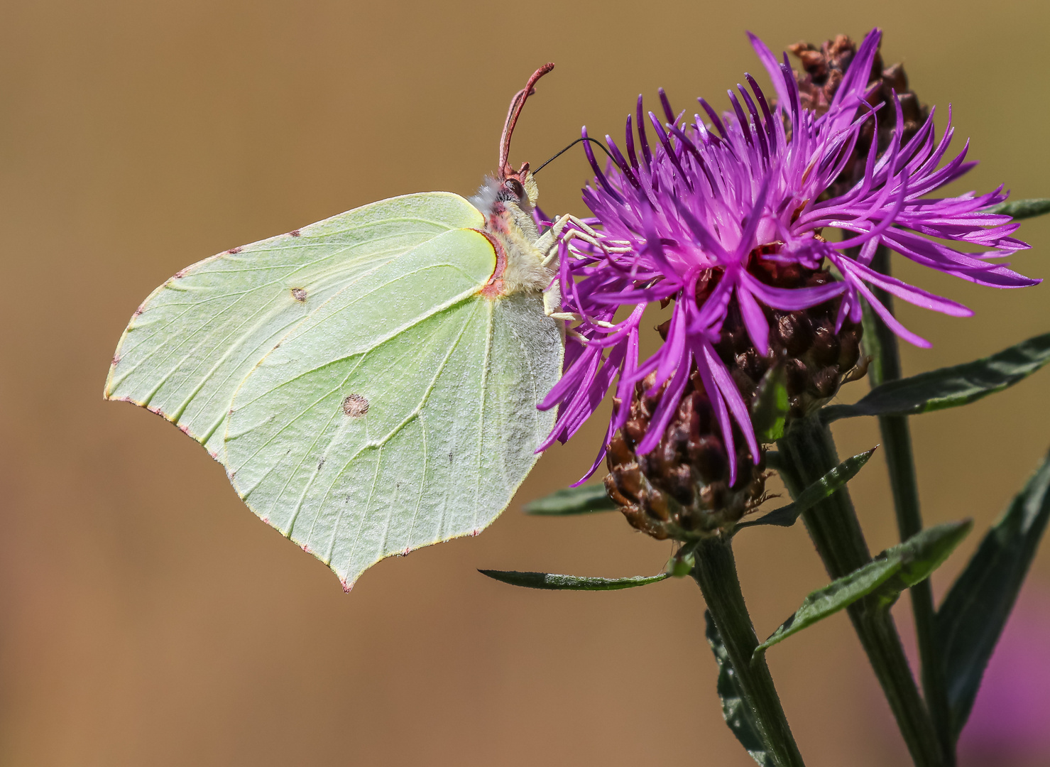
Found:
[[[879, 247], [872, 261], [872, 268], [889, 274], [889, 251]], [[876, 297], [890, 312], [892, 296], [875, 288]], [[864, 306], [864, 351], [872, 355], [868, 379], [873, 387], [901, 377], [901, 358], [897, 335], [882, 319]], [[880, 416], [879, 431], [885, 447], [889, 486], [897, 512], [897, 530], [902, 541], [922, 530], [922, 512], [919, 505], [919, 481], [915, 458], [911, 454], [911, 434], [907, 416]], [[931, 579], [927, 578], [909, 589], [911, 613], [915, 616], [919, 659], [922, 664], [922, 686], [926, 705], [937, 729], [945, 767], [956, 765], [956, 744], [951, 737], [948, 689], [944, 679], [937, 641], [937, 613], [933, 607]]]

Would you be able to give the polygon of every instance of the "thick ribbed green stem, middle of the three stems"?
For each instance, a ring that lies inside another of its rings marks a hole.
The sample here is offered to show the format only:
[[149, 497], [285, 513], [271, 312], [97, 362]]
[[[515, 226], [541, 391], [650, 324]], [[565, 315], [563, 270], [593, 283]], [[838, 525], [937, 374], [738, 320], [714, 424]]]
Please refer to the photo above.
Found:
[[[781, 477], [793, 497], [839, 463], [831, 431], [819, 417], [794, 421], [778, 442]], [[872, 561], [848, 492], [843, 488], [802, 515], [817, 553], [832, 578], [841, 578]], [[872, 600], [847, 611], [879, 684], [918, 767], [940, 767], [937, 732], [908, 666], [904, 647], [885, 607]]]

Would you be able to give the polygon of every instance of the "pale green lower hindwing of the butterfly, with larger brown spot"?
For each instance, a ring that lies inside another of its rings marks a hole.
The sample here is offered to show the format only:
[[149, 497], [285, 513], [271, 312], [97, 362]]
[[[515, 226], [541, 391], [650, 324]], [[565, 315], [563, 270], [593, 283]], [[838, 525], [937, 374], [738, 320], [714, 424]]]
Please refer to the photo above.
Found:
[[476, 535], [553, 426], [562, 341], [539, 295], [479, 295], [488, 241], [441, 234], [340, 291], [245, 378], [230, 481], [350, 585], [394, 554]]

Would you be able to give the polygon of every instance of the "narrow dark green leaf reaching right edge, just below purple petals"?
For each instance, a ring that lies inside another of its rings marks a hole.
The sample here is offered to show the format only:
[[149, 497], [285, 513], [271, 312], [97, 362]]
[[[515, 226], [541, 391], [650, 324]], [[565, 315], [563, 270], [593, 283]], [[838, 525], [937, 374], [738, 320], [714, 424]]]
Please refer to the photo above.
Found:
[[858, 415], [916, 415], [956, 408], [1012, 387], [1048, 361], [1050, 333], [1045, 333], [984, 359], [888, 381], [856, 405], [824, 408], [821, 418], [830, 423]]

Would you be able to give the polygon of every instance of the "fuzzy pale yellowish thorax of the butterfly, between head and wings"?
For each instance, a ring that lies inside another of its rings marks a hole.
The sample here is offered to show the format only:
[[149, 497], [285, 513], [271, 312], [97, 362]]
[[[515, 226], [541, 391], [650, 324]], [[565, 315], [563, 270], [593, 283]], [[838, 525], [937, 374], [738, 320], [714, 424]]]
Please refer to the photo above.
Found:
[[486, 179], [470, 199], [485, 216], [483, 233], [496, 249], [496, 271], [482, 290], [491, 298], [541, 293], [554, 276], [551, 269], [543, 266], [544, 253], [536, 247], [540, 239], [532, 219], [539, 194], [536, 182], [527, 170], [523, 175], [524, 183], [518, 178]]

